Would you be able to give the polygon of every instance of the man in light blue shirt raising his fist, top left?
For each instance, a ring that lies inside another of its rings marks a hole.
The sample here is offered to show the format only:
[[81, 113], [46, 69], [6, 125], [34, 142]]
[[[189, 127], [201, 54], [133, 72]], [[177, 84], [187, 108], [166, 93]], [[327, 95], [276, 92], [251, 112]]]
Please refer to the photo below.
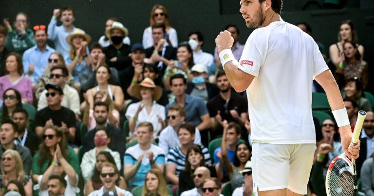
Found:
[[[57, 18], [61, 15], [61, 26], [57, 26]], [[64, 56], [64, 59], [69, 56], [70, 44], [66, 38], [75, 31], [73, 22], [75, 21], [73, 9], [64, 7], [62, 10], [54, 9], [51, 21], [48, 24], [48, 35], [55, 43], [56, 50]]]

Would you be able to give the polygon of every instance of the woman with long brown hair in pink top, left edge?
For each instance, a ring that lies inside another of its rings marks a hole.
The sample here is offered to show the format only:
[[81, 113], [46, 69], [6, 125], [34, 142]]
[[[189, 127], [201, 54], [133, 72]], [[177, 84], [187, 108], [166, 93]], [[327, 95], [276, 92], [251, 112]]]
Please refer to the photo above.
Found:
[[0, 95], [8, 88], [15, 88], [21, 94], [22, 102], [33, 103], [33, 86], [31, 80], [23, 76], [22, 59], [12, 52], [6, 57], [5, 76], [0, 77]]

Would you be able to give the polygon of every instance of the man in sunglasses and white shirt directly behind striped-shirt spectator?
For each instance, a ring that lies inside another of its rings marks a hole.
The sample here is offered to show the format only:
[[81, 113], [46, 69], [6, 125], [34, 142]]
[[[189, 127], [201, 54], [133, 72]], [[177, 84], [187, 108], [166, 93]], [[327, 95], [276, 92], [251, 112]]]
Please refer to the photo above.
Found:
[[[174, 105], [169, 108], [167, 117], [168, 126], [161, 131], [158, 137], [158, 146], [163, 149], [165, 155], [168, 154], [169, 149], [181, 145], [177, 132], [179, 126], [185, 123], [185, 116], [186, 112], [181, 106]], [[197, 128], [195, 129], [195, 139], [193, 143], [201, 145], [200, 131]]]

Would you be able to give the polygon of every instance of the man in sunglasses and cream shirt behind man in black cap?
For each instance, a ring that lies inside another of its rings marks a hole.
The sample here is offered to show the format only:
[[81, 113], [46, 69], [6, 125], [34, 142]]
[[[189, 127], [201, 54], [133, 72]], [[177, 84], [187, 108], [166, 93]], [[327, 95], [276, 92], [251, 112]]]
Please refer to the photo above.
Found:
[[[75, 88], [70, 87], [66, 84], [68, 81], [69, 71], [66, 66], [54, 66], [51, 68], [51, 84], [56, 84], [61, 87], [64, 92], [64, 97], [62, 98], [61, 105], [69, 108], [75, 113], [75, 117], [79, 119], [80, 109], [79, 109], [79, 94]], [[37, 110], [41, 110], [48, 106], [47, 96], [45, 95], [48, 91], [45, 89], [37, 102]]]

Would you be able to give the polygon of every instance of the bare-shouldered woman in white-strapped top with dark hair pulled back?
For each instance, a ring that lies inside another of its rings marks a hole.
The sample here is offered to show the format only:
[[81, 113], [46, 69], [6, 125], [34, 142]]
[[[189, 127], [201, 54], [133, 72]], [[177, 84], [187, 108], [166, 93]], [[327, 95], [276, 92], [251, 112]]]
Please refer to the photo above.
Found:
[[122, 111], [124, 95], [121, 87], [109, 84], [112, 77], [111, 70], [106, 65], [99, 65], [96, 70], [97, 86], [89, 89], [86, 92], [87, 101], [90, 104], [90, 109], [93, 109], [93, 96], [99, 91], [106, 91], [108, 96], [112, 99], [112, 103], [118, 111]]

